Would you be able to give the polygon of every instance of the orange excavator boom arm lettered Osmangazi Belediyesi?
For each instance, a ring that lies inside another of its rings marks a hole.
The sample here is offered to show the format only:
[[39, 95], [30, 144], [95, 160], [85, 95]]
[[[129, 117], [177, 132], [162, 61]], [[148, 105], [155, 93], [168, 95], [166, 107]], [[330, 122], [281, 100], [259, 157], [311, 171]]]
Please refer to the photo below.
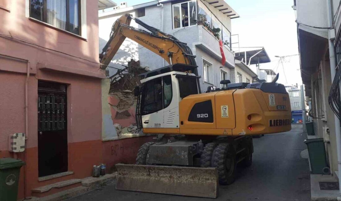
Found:
[[[151, 32], [131, 27], [130, 22], [132, 19]], [[195, 56], [185, 43], [180, 42], [172, 35], [148, 26], [129, 14], [120, 17], [113, 25], [110, 39], [100, 54], [101, 63], [104, 66], [110, 63], [125, 38], [130, 38], [153, 53], [158, 54], [169, 64], [179, 63], [196, 66]]]

